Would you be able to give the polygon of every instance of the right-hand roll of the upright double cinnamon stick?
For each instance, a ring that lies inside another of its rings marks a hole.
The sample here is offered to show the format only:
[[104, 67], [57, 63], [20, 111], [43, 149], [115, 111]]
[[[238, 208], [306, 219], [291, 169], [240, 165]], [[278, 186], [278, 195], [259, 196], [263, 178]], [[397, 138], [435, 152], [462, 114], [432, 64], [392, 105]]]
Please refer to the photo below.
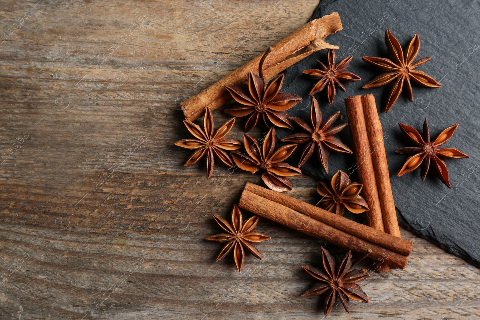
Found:
[[361, 102], [363, 106], [363, 116], [370, 141], [372, 153], [373, 168], [375, 169], [375, 178], [377, 181], [378, 195], [380, 198], [380, 208], [384, 221], [384, 229], [395, 237], [400, 237], [400, 229], [396, 219], [395, 203], [393, 200], [392, 186], [388, 173], [387, 156], [385, 153], [384, 136], [382, 124], [378, 117], [375, 97], [362, 95]]

